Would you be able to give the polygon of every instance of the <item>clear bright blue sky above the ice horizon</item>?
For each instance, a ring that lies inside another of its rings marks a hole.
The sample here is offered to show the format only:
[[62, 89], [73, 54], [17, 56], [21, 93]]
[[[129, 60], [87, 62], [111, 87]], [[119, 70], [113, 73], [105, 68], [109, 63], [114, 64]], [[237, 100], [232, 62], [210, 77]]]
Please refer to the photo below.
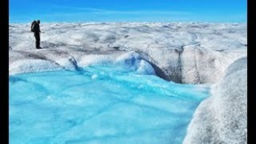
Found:
[[10, 22], [246, 22], [246, 0], [9, 0]]

